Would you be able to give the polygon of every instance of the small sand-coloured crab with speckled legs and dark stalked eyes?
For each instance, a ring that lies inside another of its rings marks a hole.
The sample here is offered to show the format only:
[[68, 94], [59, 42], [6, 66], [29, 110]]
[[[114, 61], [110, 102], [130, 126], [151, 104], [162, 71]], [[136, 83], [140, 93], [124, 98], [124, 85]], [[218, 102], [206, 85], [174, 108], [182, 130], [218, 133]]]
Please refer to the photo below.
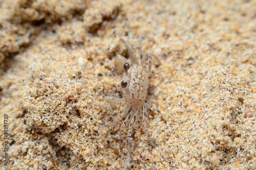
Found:
[[[128, 58], [131, 59], [132, 64], [127, 62], [127, 59], [117, 55], [118, 65], [123, 65], [124, 74], [121, 81], [121, 90], [124, 94], [124, 98], [114, 98], [111, 96], [106, 96], [105, 101], [112, 103], [121, 103], [126, 101], [126, 107], [124, 111], [117, 116], [112, 122], [111, 126], [106, 132], [105, 137], [108, 137], [119, 119], [126, 116], [121, 129], [119, 132], [119, 144], [120, 152], [123, 152], [124, 147], [124, 130], [127, 129], [127, 143], [129, 148], [129, 154], [132, 162], [137, 165], [133, 159], [132, 153], [132, 130], [134, 125], [137, 123], [140, 116], [142, 116], [143, 129], [145, 131], [147, 141], [155, 147], [155, 144], [148, 133], [147, 129], [147, 104], [145, 103], [147, 89], [148, 89], [148, 77], [151, 72], [151, 56], [147, 55], [144, 57], [141, 50], [141, 41], [139, 41], [137, 50], [139, 54], [139, 59], [136, 57], [133, 48], [125, 40], [120, 39], [126, 46], [126, 53]], [[120, 69], [119, 69], [120, 70]]]

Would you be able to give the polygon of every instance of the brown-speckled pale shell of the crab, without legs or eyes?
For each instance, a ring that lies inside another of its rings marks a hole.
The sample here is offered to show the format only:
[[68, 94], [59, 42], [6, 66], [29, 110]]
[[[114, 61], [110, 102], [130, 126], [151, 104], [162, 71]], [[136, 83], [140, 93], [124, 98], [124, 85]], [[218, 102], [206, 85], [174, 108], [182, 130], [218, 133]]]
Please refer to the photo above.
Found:
[[130, 69], [124, 73], [122, 81], [124, 80], [128, 82], [128, 85], [122, 88], [125, 98], [144, 101], [147, 94], [147, 72], [141, 66], [133, 64]]

